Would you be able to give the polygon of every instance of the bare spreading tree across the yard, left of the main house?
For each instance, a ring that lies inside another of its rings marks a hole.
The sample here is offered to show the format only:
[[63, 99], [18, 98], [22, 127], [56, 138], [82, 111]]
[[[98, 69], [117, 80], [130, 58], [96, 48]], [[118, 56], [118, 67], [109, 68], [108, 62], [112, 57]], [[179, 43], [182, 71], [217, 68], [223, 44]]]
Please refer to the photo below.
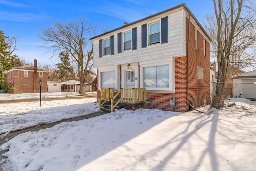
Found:
[[76, 72], [80, 80], [79, 93], [84, 93], [84, 83], [88, 74], [92, 74], [92, 37], [96, 29], [96, 24], [90, 24], [88, 20], [69, 21], [65, 24], [53, 22], [52, 28], [42, 31], [42, 36], [38, 35], [48, 49], [48, 53], [59, 53], [67, 50], [70, 53], [71, 61], [76, 64]]

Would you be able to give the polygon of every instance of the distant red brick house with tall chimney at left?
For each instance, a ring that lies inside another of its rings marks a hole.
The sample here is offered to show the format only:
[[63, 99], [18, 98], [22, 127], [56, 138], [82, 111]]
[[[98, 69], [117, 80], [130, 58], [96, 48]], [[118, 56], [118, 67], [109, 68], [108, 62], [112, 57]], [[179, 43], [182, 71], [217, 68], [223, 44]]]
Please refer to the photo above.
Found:
[[47, 91], [48, 71], [37, 68], [37, 60], [34, 59], [34, 66], [26, 64], [12, 68], [7, 71], [7, 82], [14, 86], [14, 93], [34, 93], [40, 91], [38, 81], [41, 79], [41, 91]]

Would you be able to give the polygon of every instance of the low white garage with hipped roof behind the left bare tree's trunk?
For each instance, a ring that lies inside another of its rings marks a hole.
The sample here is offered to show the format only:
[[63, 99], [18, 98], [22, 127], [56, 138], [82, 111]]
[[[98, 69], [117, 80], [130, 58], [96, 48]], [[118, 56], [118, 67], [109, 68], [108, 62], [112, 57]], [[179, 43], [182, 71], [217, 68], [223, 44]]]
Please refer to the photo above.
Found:
[[[79, 81], [69, 80], [61, 83], [62, 92], [79, 92], [79, 89], [80, 89]], [[92, 91], [92, 85], [86, 83], [84, 85], [84, 92], [91, 92], [91, 91]]]

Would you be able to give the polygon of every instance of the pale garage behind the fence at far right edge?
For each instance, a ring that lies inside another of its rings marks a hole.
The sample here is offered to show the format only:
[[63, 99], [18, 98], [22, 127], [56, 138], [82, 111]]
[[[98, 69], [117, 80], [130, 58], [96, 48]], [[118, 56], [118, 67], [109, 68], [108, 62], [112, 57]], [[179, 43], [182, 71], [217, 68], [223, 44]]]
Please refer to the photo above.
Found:
[[248, 99], [256, 99], [256, 70], [232, 77], [234, 82], [233, 95]]

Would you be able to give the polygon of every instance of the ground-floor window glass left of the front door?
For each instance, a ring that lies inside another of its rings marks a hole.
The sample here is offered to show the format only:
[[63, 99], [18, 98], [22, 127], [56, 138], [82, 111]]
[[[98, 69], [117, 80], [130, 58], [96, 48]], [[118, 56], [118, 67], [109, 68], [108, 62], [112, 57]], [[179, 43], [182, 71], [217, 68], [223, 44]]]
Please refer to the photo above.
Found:
[[116, 87], [116, 72], [102, 72], [101, 73], [101, 87], [115, 88]]

